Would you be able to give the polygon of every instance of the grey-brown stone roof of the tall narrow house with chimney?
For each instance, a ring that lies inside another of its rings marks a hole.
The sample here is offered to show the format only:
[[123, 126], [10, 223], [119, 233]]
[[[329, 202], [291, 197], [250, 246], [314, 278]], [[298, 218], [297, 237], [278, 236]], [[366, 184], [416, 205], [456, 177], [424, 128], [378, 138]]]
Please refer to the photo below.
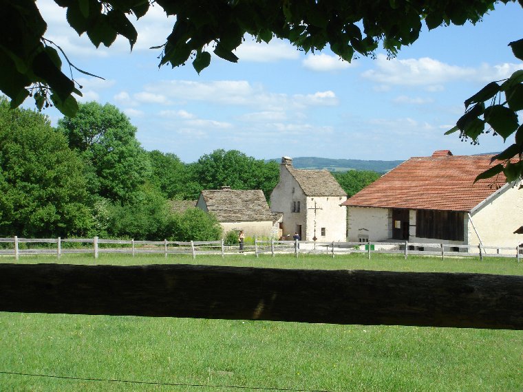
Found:
[[347, 196], [330, 171], [287, 168], [307, 196]]

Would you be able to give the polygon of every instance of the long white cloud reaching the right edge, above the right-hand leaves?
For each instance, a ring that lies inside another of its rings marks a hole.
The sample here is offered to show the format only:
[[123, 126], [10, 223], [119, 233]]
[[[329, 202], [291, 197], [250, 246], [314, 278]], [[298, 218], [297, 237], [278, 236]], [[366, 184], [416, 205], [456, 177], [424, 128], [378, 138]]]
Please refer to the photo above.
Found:
[[381, 85], [424, 85], [434, 91], [434, 89], [441, 89], [441, 85], [452, 80], [484, 82], [506, 78], [521, 68], [523, 68], [523, 63], [460, 67], [428, 57], [387, 60], [385, 55], [378, 54], [376, 69], [369, 69], [363, 72], [362, 76]]

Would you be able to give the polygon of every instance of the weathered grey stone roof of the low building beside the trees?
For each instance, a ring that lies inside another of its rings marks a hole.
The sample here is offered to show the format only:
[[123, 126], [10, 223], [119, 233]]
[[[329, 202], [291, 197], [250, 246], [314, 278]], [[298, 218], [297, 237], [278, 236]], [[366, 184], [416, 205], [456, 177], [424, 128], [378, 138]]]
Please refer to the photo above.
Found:
[[261, 190], [202, 190], [209, 213], [220, 222], [273, 221], [273, 214]]

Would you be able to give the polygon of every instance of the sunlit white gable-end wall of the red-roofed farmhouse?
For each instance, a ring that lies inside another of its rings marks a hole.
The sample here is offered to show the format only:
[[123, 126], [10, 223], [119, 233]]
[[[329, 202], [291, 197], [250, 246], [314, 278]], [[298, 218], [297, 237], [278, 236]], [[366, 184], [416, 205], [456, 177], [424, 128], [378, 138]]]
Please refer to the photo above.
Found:
[[[484, 246], [516, 247], [523, 235], [514, 231], [523, 226], [523, 190], [508, 187], [471, 214], [472, 221]], [[469, 224], [470, 245], [478, 245], [478, 235]], [[467, 235], [466, 234], [466, 235]]]

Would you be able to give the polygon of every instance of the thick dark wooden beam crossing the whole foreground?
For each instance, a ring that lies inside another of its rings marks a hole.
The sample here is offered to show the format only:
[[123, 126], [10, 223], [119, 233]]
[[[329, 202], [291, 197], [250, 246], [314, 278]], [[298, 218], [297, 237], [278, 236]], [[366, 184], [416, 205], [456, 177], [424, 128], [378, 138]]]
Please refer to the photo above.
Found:
[[523, 329], [523, 276], [0, 264], [0, 311]]

